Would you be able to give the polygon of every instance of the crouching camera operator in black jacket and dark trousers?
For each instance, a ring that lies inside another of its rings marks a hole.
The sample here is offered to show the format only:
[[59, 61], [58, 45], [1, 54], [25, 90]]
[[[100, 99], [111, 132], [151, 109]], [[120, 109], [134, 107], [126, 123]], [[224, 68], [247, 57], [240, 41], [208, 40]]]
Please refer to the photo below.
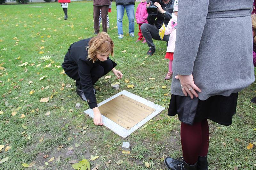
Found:
[[[152, 56], [156, 51], [153, 39], [168, 42], [170, 35], [165, 35], [163, 39], [160, 39], [158, 32], [159, 29], [162, 27], [163, 23], [165, 26], [167, 26], [170, 19], [172, 18], [173, 3], [174, 0], [163, 0], [160, 4], [157, 2], [154, 3], [154, 5], [157, 7], [157, 15], [148, 14], [148, 24], [145, 23], [141, 25], [141, 32], [146, 39], [149, 47], [147, 55]], [[150, 2], [148, 3], [147, 7], [149, 5]]]

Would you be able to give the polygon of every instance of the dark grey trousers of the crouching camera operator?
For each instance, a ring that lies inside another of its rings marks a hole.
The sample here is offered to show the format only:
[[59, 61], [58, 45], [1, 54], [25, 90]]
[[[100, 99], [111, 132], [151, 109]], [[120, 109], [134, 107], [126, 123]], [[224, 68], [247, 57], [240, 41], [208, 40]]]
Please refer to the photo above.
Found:
[[160, 39], [160, 36], [158, 34], [159, 29], [156, 28], [155, 25], [150, 25], [150, 24], [145, 23], [140, 26], [140, 29], [141, 29], [142, 35], [146, 39], [149, 47], [150, 46], [155, 47], [155, 45], [153, 43], [153, 39], [168, 42], [169, 37], [170, 37], [170, 35], [164, 35], [164, 38]]

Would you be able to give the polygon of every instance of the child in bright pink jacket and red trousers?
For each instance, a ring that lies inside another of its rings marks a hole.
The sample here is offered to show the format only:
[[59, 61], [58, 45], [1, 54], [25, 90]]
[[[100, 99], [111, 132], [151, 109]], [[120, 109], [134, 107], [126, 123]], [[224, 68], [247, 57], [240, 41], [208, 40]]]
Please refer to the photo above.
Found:
[[[137, 7], [137, 10], [136, 10], [136, 13], [135, 13], [135, 18], [136, 18], [137, 24], [139, 24], [139, 33], [138, 33], [139, 38], [135, 42], [139, 42], [139, 41], [143, 40], [143, 35], [141, 33], [140, 26], [143, 23], [148, 23], [148, 20], [147, 20], [148, 12], [147, 12], [147, 2], [146, 2], [146, 0], [141, 0], [141, 3]], [[146, 40], [144, 39], [142, 41], [142, 43], [146, 43]]]

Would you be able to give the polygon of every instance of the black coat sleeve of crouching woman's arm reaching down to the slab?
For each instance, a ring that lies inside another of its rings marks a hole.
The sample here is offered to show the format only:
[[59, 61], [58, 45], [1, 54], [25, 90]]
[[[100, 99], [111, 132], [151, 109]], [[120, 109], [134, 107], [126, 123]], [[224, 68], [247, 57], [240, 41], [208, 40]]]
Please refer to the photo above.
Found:
[[82, 90], [84, 91], [84, 95], [87, 99], [87, 103], [90, 108], [93, 109], [97, 107], [96, 96], [93, 92], [92, 86], [92, 78], [91, 78], [91, 69], [92, 65], [86, 60], [78, 60], [78, 74], [80, 77], [80, 83], [82, 86]]

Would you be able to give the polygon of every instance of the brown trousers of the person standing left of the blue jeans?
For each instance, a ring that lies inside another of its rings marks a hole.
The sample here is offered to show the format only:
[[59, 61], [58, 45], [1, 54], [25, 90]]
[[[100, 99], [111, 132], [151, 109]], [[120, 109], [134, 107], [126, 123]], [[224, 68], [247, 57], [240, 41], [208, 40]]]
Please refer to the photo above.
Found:
[[108, 5], [103, 6], [93, 6], [93, 21], [94, 21], [94, 32], [100, 32], [99, 18], [102, 18], [102, 32], [108, 32], [107, 30], [107, 15], [108, 15]]

